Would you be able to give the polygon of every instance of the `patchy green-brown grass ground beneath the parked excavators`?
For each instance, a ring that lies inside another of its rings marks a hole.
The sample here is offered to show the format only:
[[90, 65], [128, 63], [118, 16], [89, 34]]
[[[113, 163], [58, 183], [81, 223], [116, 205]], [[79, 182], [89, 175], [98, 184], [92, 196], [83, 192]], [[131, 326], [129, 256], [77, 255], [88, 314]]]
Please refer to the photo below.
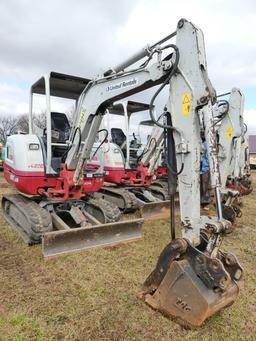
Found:
[[169, 241], [167, 220], [144, 223], [140, 242], [44, 261], [0, 215], [0, 340], [256, 340], [256, 192], [243, 203], [222, 246], [245, 269], [239, 298], [195, 330], [136, 298]]

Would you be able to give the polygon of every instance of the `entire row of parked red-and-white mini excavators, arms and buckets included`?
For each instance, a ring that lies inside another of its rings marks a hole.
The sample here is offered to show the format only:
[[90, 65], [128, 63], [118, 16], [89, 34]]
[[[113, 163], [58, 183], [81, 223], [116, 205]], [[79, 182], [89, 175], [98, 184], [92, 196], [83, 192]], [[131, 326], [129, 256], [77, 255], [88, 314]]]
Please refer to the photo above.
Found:
[[[129, 99], [157, 85], [148, 104]], [[161, 112], [155, 99], [164, 87], [169, 94]], [[33, 124], [34, 94], [45, 95], [42, 131]], [[51, 111], [51, 96], [74, 100], [71, 125]], [[145, 110], [153, 130], [144, 146], [135, 135], [129, 139], [103, 125], [111, 113], [121, 115], [129, 131], [130, 116]], [[94, 79], [51, 72], [31, 87], [29, 134], [7, 140], [5, 177], [19, 194], [3, 197], [4, 215], [29, 244], [42, 240], [47, 257], [140, 239], [143, 219], [120, 221], [121, 212], [168, 213], [172, 240], [139, 297], [186, 326], [199, 326], [235, 301], [243, 275], [236, 256], [220, 249], [241, 214], [241, 188], [251, 190], [242, 115], [240, 90], [219, 101], [203, 33], [185, 19]], [[202, 132], [216, 207], [211, 217], [200, 210]], [[181, 238], [175, 235], [177, 204]]]

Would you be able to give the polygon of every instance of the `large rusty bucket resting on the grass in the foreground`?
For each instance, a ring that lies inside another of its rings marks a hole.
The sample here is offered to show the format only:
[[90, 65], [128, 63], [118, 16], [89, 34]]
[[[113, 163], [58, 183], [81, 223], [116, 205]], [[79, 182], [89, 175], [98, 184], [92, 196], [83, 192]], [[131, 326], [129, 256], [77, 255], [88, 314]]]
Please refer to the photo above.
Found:
[[219, 258], [210, 258], [185, 239], [176, 239], [162, 251], [139, 297], [194, 328], [234, 302], [242, 273], [234, 255], [221, 253]]

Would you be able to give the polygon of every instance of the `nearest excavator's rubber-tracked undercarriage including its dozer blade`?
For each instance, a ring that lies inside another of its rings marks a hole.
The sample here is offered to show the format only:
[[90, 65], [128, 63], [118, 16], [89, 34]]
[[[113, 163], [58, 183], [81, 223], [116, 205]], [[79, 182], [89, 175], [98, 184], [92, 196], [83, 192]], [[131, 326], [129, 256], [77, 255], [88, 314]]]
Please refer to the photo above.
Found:
[[142, 219], [119, 222], [119, 209], [102, 198], [42, 201], [20, 194], [2, 198], [6, 220], [29, 245], [43, 240], [44, 256], [141, 238]]

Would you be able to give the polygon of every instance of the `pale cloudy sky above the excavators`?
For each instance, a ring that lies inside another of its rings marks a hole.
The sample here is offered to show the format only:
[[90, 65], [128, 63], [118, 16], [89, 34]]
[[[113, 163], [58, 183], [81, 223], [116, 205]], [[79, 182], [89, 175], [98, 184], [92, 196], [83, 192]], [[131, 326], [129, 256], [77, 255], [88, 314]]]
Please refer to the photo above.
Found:
[[[173, 32], [180, 18], [204, 32], [217, 93], [243, 91], [245, 122], [256, 134], [254, 0], [0, 0], [0, 116], [27, 113], [30, 86], [43, 74], [95, 77]], [[43, 103], [38, 98], [35, 110]]]

